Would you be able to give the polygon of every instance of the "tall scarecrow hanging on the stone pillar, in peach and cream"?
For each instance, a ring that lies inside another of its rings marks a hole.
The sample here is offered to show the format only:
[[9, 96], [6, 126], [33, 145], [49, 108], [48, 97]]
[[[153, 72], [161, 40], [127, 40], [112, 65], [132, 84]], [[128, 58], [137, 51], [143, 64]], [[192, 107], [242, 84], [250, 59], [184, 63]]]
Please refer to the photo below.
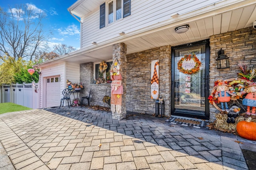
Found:
[[123, 94], [123, 85], [122, 85], [122, 76], [120, 74], [120, 64], [116, 59], [114, 59], [113, 64], [110, 68], [110, 78], [112, 80], [111, 83], [111, 111], [112, 114], [121, 113], [121, 106], [122, 106], [122, 94]]

